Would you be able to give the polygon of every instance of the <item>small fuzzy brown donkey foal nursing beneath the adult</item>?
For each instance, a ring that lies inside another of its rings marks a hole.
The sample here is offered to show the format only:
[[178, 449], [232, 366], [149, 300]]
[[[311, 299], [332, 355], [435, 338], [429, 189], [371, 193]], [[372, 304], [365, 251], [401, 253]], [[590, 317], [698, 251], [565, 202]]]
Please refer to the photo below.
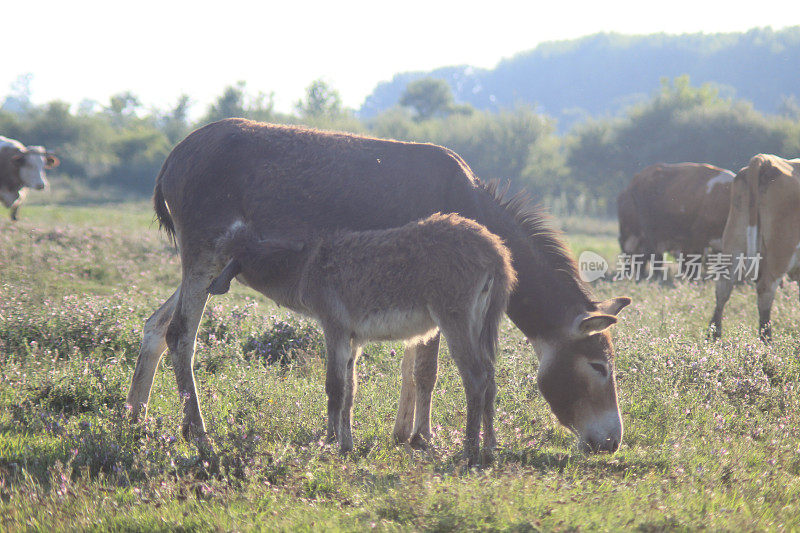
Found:
[[[232, 258], [209, 287], [224, 294], [235, 276], [257, 290], [279, 288], [278, 303], [322, 324], [327, 347], [328, 439], [353, 448], [355, 365], [369, 341], [425, 342], [441, 331], [467, 395], [465, 451], [478, 461], [494, 434], [497, 328], [516, 280], [499, 237], [458, 215], [434, 214], [400, 228], [343, 231], [309, 242], [261, 240], [235, 222], [218, 244]], [[281, 255], [296, 255], [300, 277], [275, 280]], [[282, 282], [285, 285], [282, 285]], [[423, 421], [415, 421], [419, 431]]]

